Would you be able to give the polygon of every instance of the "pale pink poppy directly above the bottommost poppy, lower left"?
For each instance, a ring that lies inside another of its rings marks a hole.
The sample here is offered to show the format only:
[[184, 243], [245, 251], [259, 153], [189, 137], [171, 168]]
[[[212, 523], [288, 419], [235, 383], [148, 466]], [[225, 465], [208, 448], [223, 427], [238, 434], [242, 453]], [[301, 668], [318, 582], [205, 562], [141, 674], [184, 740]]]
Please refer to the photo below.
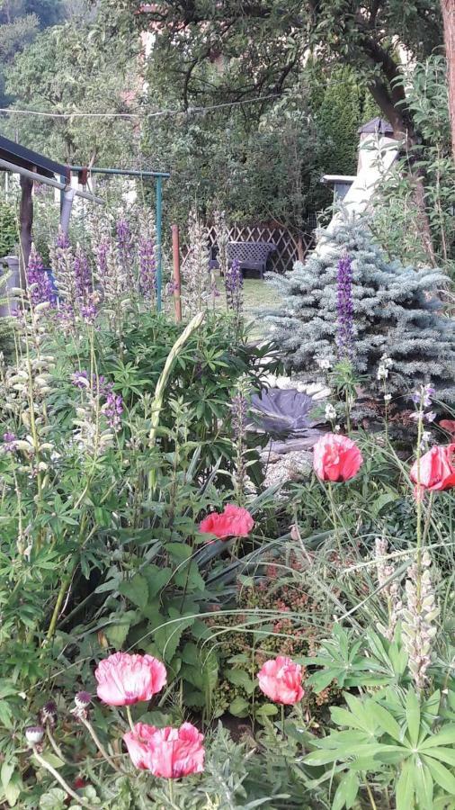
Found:
[[165, 665], [152, 655], [113, 653], [98, 664], [94, 677], [100, 700], [109, 706], [130, 706], [150, 700], [161, 691], [166, 671]]

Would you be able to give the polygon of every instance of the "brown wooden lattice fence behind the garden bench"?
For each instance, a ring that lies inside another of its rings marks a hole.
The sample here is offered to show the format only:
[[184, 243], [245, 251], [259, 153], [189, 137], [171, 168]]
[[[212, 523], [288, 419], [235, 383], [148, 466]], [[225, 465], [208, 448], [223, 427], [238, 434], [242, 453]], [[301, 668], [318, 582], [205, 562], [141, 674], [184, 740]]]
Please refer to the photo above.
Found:
[[[290, 231], [281, 226], [269, 223], [257, 223], [254, 225], [231, 225], [228, 229], [230, 242], [273, 242], [276, 250], [269, 258], [267, 269], [274, 273], [284, 273], [291, 270], [295, 261], [299, 258], [298, 240]], [[214, 224], [207, 226], [208, 248], [217, 244], [217, 229]], [[312, 233], [303, 234], [301, 238], [303, 257], [307, 256], [308, 250], [314, 246], [314, 236]], [[183, 260], [188, 253], [188, 247], [183, 245]]]

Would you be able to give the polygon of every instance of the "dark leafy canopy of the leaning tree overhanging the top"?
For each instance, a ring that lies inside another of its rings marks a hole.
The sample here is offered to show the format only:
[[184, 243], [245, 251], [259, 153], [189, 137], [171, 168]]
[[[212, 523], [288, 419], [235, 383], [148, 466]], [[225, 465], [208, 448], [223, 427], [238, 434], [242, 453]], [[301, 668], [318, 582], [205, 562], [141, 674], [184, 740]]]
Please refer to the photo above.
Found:
[[[183, 106], [208, 96], [281, 94], [308, 52], [326, 66], [353, 67], [397, 133], [409, 134], [397, 43], [424, 58], [442, 43], [433, 0], [110, 0], [156, 32], [155, 66], [179, 87]], [[139, 14], [140, 9], [143, 10]], [[215, 69], [208, 80], [205, 66]], [[398, 104], [398, 106], [397, 106]], [[412, 132], [411, 132], [412, 136]]]

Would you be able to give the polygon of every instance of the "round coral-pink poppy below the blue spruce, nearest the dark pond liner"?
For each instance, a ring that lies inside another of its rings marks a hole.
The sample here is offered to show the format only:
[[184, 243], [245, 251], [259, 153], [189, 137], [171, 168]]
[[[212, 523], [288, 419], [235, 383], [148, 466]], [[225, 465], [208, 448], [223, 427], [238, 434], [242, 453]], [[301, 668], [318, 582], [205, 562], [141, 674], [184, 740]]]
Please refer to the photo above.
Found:
[[348, 481], [363, 462], [358, 446], [347, 436], [326, 433], [314, 446], [313, 468], [321, 481]]

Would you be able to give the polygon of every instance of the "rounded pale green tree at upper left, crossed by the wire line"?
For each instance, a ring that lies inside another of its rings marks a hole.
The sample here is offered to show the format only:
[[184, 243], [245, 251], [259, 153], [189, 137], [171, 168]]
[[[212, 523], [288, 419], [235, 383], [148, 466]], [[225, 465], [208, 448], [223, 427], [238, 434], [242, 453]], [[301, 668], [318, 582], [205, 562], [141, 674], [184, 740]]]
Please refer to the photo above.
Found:
[[[137, 38], [120, 14], [71, 20], [48, 28], [18, 53], [7, 71], [7, 91], [20, 108], [42, 112], [129, 112], [136, 83]], [[128, 100], [129, 99], [129, 100]], [[131, 154], [128, 119], [28, 118], [9, 122], [25, 146], [65, 163], [121, 164]]]

